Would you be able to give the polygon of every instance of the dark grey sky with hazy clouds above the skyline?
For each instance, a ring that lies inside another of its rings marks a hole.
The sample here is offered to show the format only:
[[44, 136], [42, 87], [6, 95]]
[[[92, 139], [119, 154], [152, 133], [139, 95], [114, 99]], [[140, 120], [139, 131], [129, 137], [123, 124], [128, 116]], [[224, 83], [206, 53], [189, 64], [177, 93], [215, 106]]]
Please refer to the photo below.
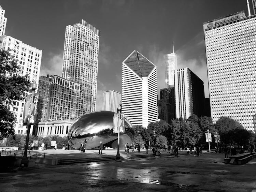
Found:
[[[253, 8], [251, 4], [251, 13]], [[41, 49], [40, 76], [61, 76], [65, 28], [80, 19], [99, 29], [96, 110], [103, 91], [122, 91], [122, 62], [136, 49], [157, 66], [158, 94], [165, 88], [164, 54], [177, 54], [204, 82], [209, 97], [203, 23], [239, 11], [246, 0], [0, 0], [5, 35]]]

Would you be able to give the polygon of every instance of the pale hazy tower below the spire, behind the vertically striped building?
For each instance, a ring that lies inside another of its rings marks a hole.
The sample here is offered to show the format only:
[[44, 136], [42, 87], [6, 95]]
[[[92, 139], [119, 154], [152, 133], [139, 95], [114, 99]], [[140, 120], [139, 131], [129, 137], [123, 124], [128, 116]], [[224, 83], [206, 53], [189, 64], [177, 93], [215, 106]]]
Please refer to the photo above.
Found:
[[177, 55], [175, 53], [165, 55], [166, 87], [174, 87], [174, 70], [177, 69]]

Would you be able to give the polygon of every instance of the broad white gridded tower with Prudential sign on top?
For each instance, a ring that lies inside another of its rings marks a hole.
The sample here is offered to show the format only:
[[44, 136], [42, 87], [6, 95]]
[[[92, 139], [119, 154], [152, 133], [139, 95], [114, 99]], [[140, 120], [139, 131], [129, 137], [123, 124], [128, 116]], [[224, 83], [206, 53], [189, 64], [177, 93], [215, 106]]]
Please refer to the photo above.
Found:
[[203, 24], [211, 116], [255, 132], [256, 15], [238, 12]]

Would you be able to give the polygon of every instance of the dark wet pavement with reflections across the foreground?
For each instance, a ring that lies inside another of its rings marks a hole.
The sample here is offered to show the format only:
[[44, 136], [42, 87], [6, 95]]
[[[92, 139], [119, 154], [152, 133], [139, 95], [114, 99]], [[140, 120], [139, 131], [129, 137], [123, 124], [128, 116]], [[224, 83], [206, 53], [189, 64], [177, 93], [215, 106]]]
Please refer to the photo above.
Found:
[[38, 166], [0, 173], [0, 191], [256, 191], [256, 159], [224, 154]]

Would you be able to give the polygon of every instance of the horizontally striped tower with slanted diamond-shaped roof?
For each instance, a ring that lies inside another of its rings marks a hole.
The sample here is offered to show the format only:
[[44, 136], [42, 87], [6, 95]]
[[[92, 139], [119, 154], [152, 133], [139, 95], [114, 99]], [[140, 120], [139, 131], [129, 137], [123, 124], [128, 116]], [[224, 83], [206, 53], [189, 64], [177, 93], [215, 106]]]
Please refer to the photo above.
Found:
[[122, 112], [145, 128], [158, 120], [156, 66], [136, 50], [123, 61]]

